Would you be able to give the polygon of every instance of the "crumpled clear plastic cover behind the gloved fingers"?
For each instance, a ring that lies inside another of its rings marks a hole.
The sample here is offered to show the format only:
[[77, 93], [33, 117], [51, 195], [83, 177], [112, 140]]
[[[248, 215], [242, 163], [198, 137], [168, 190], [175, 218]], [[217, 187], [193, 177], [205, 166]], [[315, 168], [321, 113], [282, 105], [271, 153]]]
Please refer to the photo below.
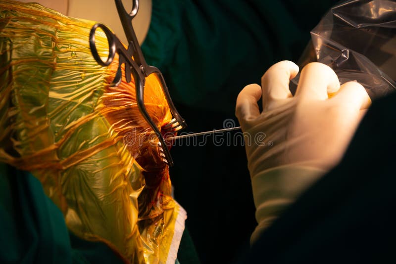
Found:
[[[318, 61], [330, 66], [340, 83], [357, 81], [372, 99], [396, 89], [396, 1], [343, 1], [311, 31], [312, 42], [300, 69]], [[292, 80], [297, 87], [299, 75]]]

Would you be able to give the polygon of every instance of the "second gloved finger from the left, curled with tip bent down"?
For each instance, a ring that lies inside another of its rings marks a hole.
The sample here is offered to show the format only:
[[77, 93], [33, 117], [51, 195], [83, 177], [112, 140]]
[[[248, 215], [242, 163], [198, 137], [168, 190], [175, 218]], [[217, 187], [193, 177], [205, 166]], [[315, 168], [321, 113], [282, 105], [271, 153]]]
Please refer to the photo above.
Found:
[[261, 78], [263, 88], [263, 109], [268, 110], [276, 99], [292, 97], [289, 81], [296, 77], [298, 66], [288, 60], [272, 65]]

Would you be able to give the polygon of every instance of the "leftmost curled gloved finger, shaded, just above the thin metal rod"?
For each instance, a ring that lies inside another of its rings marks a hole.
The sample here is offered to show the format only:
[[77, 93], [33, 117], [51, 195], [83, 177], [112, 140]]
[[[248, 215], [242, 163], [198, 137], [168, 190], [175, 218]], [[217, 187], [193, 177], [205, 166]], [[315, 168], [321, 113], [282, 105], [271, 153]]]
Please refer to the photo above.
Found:
[[[261, 87], [251, 84], [242, 89], [237, 98], [235, 115], [238, 120], [246, 121], [256, 118], [260, 115], [257, 101], [261, 98]], [[241, 124], [243, 126], [243, 124]]]

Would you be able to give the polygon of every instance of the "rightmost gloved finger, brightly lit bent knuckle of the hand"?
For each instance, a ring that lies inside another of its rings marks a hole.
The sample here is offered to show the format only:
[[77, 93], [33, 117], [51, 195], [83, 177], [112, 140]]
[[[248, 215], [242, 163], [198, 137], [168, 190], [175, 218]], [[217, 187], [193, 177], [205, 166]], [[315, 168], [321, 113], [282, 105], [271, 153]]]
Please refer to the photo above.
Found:
[[357, 82], [343, 84], [337, 95], [331, 100], [338, 101], [341, 104], [347, 104], [355, 110], [367, 109], [371, 105], [371, 99], [366, 89]]

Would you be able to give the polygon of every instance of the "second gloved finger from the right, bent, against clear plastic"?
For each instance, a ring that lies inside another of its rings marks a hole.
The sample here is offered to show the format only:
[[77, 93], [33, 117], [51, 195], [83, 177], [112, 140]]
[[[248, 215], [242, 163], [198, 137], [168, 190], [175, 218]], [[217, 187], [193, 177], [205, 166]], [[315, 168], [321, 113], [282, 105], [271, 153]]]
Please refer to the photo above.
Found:
[[300, 97], [299, 100], [325, 100], [328, 93], [336, 92], [339, 88], [340, 81], [329, 66], [311, 62], [301, 71], [295, 96]]

